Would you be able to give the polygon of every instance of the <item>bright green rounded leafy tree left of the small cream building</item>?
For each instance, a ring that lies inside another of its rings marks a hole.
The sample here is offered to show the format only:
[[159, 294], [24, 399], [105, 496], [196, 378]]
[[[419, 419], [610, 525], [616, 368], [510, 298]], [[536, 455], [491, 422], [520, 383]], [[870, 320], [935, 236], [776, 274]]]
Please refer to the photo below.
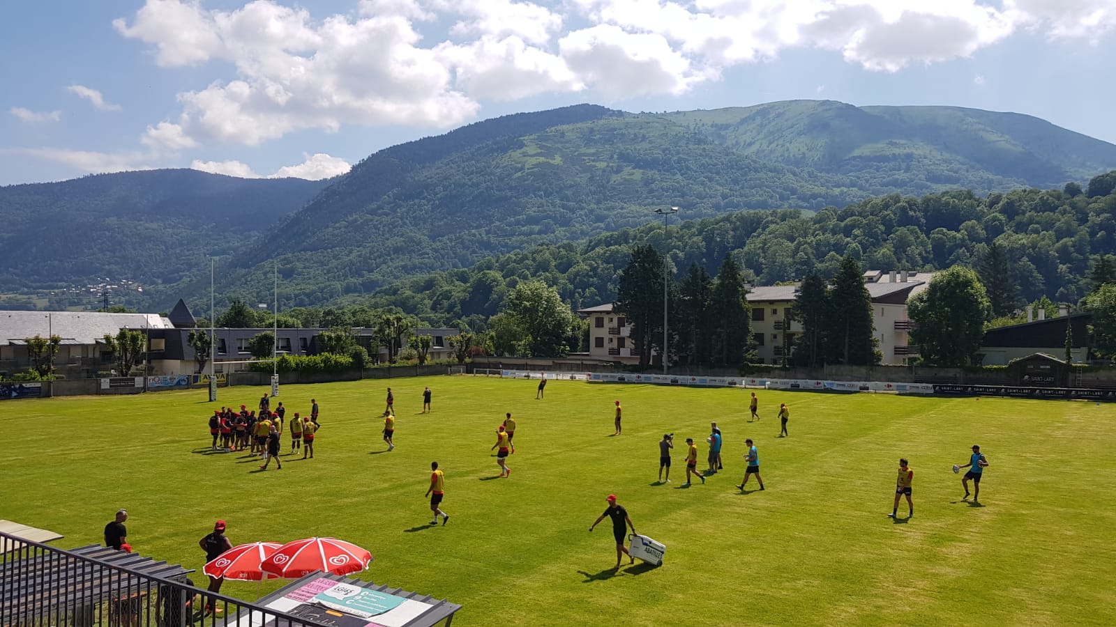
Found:
[[574, 312], [558, 296], [558, 290], [542, 281], [526, 281], [516, 286], [504, 301], [504, 312], [523, 330], [526, 341], [520, 350], [532, 357], [565, 357], [569, 354], [567, 337]]

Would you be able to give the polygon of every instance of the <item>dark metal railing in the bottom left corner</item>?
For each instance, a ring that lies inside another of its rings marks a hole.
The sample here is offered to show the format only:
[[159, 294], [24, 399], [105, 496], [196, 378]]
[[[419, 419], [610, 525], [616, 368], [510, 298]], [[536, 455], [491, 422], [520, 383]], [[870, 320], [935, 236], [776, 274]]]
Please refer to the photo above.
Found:
[[0, 533], [0, 627], [321, 625], [209, 592], [190, 572], [105, 547], [62, 550]]

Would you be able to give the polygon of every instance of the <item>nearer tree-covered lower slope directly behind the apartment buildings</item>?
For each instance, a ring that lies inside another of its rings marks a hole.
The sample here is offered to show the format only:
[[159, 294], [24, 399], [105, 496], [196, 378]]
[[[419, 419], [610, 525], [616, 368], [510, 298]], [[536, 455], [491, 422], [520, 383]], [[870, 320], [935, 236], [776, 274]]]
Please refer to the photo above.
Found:
[[1091, 258], [1116, 253], [1114, 190], [1116, 172], [1094, 179], [1087, 192], [1070, 184], [984, 197], [968, 191], [921, 199], [893, 194], [817, 214], [741, 211], [671, 226], [665, 240], [662, 224], [647, 224], [585, 244], [545, 244], [488, 258], [468, 270], [401, 281], [372, 298], [338, 302], [397, 306], [430, 324], [463, 320], [475, 330], [500, 310], [510, 289], [529, 278], [557, 287], [575, 309], [612, 302], [617, 273], [639, 243], [670, 250], [676, 273], [696, 263], [715, 274], [732, 253], [745, 278], [770, 284], [811, 269], [829, 278], [845, 254], [885, 271], [975, 267], [992, 242], [1009, 260], [1001, 280], [1017, 286], [1019, 298], [1077, 302], [1088, 291]]

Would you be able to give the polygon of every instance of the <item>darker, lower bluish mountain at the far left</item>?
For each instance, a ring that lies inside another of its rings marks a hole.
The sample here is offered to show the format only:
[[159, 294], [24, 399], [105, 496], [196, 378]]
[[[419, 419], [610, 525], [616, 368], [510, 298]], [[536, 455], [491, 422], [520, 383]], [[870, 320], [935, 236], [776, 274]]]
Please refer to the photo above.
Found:
[[3, 186], [0, 291], [208, 273], [208, 255], [244, 247], [328, 184], [151, 170]]

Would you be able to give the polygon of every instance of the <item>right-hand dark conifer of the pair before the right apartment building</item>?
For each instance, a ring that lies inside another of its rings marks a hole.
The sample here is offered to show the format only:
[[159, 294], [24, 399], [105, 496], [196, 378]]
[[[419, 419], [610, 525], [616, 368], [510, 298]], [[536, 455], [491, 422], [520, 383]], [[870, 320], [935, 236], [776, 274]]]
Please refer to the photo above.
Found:
[[874, 335], [872, 297], [864, 286], [864, 270], [856, 259], [841, 259], [826, 302], [826, 363], [855, 366], [875, 364], [879, 354]]

